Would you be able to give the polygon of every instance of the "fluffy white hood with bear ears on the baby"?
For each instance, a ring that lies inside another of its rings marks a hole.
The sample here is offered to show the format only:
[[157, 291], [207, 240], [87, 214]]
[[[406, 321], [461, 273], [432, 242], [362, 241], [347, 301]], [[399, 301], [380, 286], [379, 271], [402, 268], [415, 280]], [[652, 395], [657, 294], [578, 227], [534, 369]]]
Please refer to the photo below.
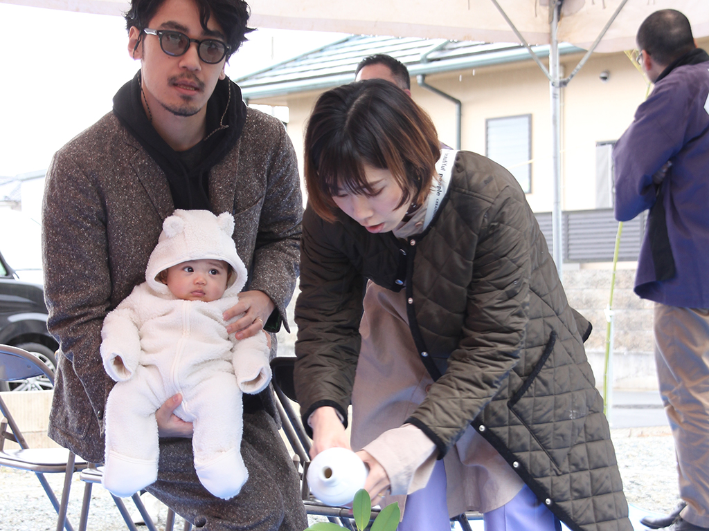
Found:
[[169, 295], [167, 285], [157, 280], [161, 271], [189, 260], [214, 259], [231, 265], [225, 295], [235, 295], [246, 285], [246, 267], [233, 240], [234, 217], [208, 210], [175, 210], [162, 222], [157, 246], [145, 269], [145, 281], [156, 292]]

